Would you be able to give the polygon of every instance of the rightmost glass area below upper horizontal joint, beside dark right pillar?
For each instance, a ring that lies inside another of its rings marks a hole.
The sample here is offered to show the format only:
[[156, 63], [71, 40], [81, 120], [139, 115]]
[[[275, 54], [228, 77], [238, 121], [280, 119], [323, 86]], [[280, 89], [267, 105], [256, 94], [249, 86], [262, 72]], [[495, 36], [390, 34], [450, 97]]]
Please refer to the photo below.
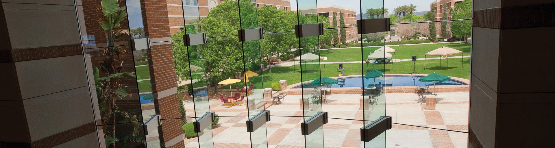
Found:
[[[447, 39], [441, 39], [442, 23], [447, 29]], [[385, 81], [386, 85], [391, 84], [387, 89], [396, 92], [387, 94], [387, 103], [391, 104], [387, 106], [387, 114], [392, 114], [393, 123], [467, 131], [472, 43], [471, 38], [467, 38], [471, 33], [470, 20], [397, 24], [395, 28], [398, 36], [411, 38], [391, 42], [401, 45], [388, 46], [395, 49], [396, 59], [400, 59], [400, 62], [394, 63], [395, 76]], [[433, 39], [436, 33], [430, 30], [436, 30], [440, 37]], [[406, 32], [408, 35], [402, 35]], [[437, 51], [448, 53], [433, 54]], [[416, 55], [416, 61], [411, 60], [413, 55]], [[423, 78], [434, 73], [448, 76], [450, 80], [426, 81]], [[407, 86], [414, 90], [399, 91]], [[388, 138], [395, 140], [388, 140], [388, 146], [466, 147], [466, 133], [407, 125], [393, 125], [390, 131], [395, 134], [388, 135]], [[421, 140], [418, 143], [405, 140], [408, 137], [419, 137]]]

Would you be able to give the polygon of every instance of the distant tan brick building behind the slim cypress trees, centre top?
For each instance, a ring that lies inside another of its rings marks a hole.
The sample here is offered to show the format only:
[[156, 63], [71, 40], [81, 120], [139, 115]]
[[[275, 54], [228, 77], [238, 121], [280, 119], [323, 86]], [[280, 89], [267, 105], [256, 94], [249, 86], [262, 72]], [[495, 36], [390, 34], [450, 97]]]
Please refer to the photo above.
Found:
[[[302, 9], [302, 13], [303, 14], [314, 14], [316, 13], [315, 9], [312, 8], [300, 8]], [[337, 20], [337, 26], [339, 27], [339, 13], [343, 13], [343, 17], [345, 19], [345, 27], [353, 27], [353, 28], [346, 28], [346, 34], [347, 34], [347, 42], [352, 42], [353, 40], [356, 40], [360, 35], [357, 34], [356, 31], [356, 10], [355, 9], [351, 9], [351, 8], [345, 8], [345, 7], [341, 7], [341, 6], [336, 6], [333, 4], [326, 4], [326, 5], [319, 5], [317, 6], [317, 12], [318, 12], [318, 16], [325, 16], [328, 17], [330, 19], [330, 25], [333, 23], [333, 19], [334, 19], [334, 13], [335, 13], [335, 17]], [[341, 33], [339, 32], [339, 29], [337, 29], [337, 33], [339, 34], [339, 37], [341, 38]]]

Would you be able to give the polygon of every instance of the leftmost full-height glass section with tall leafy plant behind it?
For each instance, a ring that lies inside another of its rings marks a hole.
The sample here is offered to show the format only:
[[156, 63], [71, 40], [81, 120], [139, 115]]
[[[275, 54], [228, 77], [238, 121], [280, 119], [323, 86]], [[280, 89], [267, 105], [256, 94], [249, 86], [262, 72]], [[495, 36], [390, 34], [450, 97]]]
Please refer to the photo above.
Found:
[[129, 46], [130, 39], [144, 38], [143, 24], [128, 21], [140, 9], [130, 11], [138, 3], [127, 2], [75, 1], [98, 139], [102, 147], [159, 147], [159, 141], [145, 136], [158, 131], [143, 126], [154, 115], [149, 109], [154, 104], [143, 100], [152, 92], [148, 66], [143, 67], [148, 65], [146, 52]]

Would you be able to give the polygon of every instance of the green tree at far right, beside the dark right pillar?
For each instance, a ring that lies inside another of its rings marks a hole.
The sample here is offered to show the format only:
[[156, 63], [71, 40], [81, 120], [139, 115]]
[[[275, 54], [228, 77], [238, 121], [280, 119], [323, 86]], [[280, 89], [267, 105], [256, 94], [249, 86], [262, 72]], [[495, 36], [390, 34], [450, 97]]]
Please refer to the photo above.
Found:
[[[472, 16], [472, 0], [465, 0], [455, 4], [451, 13], [453, 19], [464, 19]], [[454, 37], [468, 37], [471, 34], [472, 22], [470, 20], [451, 22], [451, 32]]]

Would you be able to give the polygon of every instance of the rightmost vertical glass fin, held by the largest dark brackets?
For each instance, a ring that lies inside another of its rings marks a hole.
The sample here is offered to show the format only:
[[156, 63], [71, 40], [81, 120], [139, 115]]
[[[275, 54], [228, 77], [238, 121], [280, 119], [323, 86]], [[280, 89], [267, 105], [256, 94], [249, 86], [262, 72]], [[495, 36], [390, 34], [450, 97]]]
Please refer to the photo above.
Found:
[[[388, 11], [384, 8], [382, 0], [361, 1], [361, 9], [362, 19], [384, 18]], [[384, 50], [386, 38], [384, 32], [361, 34], [362, 47], [360, 49], [362, 50], [362, 75], [364, 77], [361, 81], [362, 99], [360, 103], [364, 114], [364, 125], [386, 115], [385, 86], [387, 85], [380, 83], [379, 80], [386, 78], [385, 74], [393, 70], [390, 68], [393, 65], [393, 56], [385, 51], [377, 50]], [[370, 142], [364, 142], [364, 147], [385, 147], [385, 132]]]

